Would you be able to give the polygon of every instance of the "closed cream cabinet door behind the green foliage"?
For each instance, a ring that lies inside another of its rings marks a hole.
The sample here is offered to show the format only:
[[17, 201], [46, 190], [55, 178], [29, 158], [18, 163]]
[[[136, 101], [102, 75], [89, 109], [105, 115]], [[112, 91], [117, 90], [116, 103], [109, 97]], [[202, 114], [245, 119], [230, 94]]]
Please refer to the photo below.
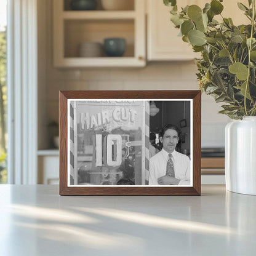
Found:
[[[197, 4], [204, 7], [207, 0], [180, 0], [178, 7]], [[247, 0], [242, 0], [247, 6]], [[233, 18], [234, 25], [248, 23], [249, 20], [239, 10], [236, 2], [224, 1], [223, 16]], [[178, 29], [170, 21], [171, 7], [164, 6], [162, 1], [147, 0], [147, 59], [149, 61], [193, 60], [200, 54], [193, 52], [192, 47], [178, 36]], [[238, 15], [239, 14], [239, 15]], [[215, 19], [221, 20], [221, 16]]]

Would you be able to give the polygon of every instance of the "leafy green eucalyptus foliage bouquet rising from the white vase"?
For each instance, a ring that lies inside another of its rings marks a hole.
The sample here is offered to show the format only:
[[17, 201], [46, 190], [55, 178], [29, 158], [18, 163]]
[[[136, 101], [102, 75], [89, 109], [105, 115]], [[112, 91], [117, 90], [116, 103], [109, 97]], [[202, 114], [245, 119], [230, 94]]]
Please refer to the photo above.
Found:
[[199, 88], [215, 102], [225, 102], [220, 113], [232, 119], [256, 116], [255, 0], [248, 0], [247, 6], [238, 2], [250, 22], [239, 26], [222, 16], [222, 2], [212, 0], [203, 9], [191, 5], [178, 11], [176, 0], [164, 0], [172, 6], [170, 19], [183, 41], [201, 52], [202, 58], [196, 60]]

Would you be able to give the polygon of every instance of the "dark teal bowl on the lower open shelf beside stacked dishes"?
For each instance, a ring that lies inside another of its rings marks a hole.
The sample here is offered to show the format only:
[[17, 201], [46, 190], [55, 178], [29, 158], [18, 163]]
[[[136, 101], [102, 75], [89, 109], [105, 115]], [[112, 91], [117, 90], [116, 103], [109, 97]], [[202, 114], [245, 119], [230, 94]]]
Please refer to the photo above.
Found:
[[109, 57], [121, 57], [126, 51], [126, 39], [106, 38], [104, 40], [104, 50]]

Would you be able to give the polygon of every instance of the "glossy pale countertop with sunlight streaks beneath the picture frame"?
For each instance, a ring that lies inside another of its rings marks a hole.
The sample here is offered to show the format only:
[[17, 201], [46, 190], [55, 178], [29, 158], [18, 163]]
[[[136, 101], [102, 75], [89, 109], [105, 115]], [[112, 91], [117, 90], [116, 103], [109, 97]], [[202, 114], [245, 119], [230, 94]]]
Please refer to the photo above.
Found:
[[59, 196], [0, 185], [0, 255], [255, 255], [256, 196]]

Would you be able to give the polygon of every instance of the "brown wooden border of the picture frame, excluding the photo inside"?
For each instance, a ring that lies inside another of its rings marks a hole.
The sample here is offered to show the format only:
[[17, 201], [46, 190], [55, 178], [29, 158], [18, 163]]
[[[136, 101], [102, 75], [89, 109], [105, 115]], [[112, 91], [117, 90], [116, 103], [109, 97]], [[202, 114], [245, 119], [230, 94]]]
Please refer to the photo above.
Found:
[[[193, 186], [68, 186], [68, 99], [193, 99]], [[60, 195], [200, 196], [201, 195], [201, 91], [199, 90], [78, 90], [60, 91]]]

